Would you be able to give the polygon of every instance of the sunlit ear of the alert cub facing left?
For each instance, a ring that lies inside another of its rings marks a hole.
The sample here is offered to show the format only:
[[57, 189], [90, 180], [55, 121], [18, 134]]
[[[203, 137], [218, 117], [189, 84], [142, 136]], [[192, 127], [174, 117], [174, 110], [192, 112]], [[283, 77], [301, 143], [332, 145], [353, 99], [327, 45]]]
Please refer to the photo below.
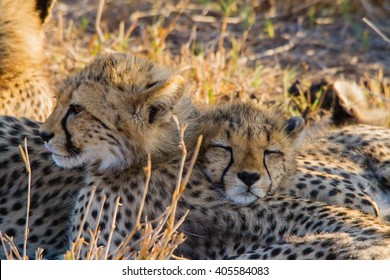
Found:
[[147, 121], [169, 121], [172, 111], [179, 102], [184, 92], [184, 78], [174, 75], [162, 85], [156, 85], [156, 89], [147, 94]]

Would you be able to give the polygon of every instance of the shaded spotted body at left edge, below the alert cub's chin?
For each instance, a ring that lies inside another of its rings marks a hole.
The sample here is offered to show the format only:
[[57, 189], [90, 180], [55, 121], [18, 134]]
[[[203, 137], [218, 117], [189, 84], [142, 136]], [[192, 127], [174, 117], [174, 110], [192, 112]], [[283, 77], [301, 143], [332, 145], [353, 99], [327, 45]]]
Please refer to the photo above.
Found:
[[[32, 181], [26, 253], [34, 259], [41, 248], [45, 259], [54, 259], [70, 246], [69, 213], [83, 184], [83, 170], [57, 167], [44, 148], [39, 126], [30, 119], [0, 116], [0, 231], [13, 238], [22, 254], [28, 173], [19, 145], [24, 146], [27, 138]], [[0, 257], [6, 257], [3, 246]]]

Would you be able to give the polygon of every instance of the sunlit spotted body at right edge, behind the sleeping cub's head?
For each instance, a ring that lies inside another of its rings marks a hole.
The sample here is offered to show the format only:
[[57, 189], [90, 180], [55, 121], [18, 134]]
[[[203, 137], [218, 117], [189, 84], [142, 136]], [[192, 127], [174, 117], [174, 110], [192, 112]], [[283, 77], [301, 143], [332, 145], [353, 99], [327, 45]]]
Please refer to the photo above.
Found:
[[[297, 156], [296, 186], [289, 193], [333, 197], [385, 220], [390, 214], [390, 130], [370, 125], [328, 128], [312, 137]], [[324, 187], [323, 178], [330, 186]], [[313, 185], [317, 188], [313, 189]], [[321, 187], [322, 186], [322, 187]], [[322, 192], [317, 192], [321, 187]], [[369, 210], [371, 208], [371, 210]], [[369, 210], [369, 211], [368, 211]], [[374, 211], [374, 212], [373, 212]]]

